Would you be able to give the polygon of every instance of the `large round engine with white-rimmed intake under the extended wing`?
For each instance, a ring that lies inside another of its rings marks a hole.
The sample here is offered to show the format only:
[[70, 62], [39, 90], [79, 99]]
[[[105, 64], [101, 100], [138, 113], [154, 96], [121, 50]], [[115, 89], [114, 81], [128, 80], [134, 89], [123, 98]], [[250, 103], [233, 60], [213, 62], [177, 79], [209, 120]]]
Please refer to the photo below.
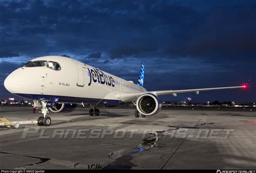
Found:
[[137, 99], [136, 108], [145, 116], [153, 116], [161, 110], [161, 104], [157, 96], [146, 93]]

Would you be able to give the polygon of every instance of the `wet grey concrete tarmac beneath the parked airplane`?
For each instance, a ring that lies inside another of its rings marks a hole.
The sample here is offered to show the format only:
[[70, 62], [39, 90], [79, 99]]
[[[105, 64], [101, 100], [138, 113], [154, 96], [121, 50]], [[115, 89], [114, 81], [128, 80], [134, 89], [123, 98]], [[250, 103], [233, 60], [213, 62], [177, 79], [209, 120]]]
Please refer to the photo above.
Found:
[[[256, 169], [255, 108], [172, 107], [135, 118], [134, 107], [50, 113], [51, 126], [0, 128], [0, 169]], [[31, 107], [0, 108], [10, 121]]]

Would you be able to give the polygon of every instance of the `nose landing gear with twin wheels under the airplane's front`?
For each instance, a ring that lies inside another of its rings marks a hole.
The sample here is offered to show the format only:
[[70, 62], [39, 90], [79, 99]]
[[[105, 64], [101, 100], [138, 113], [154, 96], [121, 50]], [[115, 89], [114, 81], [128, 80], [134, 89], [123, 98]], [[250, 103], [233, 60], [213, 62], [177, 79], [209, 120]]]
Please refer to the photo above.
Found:
[[[50, 126], [51, 125], [51, 118], [47, 113], [49, 113], [48, 108], [46, 107], [47, 105], [47, 100], [40, 100], [41, 102], [41, 112], [44, 114], [44, 116], [41, 116], [37, 119], [37, 124], [38, 126]], [[34, 103], [35, 105], [35, 103]]]

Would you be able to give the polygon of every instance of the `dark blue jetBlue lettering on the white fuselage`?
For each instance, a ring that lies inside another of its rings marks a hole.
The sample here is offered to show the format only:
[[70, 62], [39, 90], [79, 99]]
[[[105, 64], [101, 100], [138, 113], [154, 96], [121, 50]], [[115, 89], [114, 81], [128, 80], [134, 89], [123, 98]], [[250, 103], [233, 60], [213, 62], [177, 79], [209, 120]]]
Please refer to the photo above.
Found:
[[114, 79], [113, 77], [109, 76], [109, 75], [105, 75], [103, 73], [102, 70], [99, 70], [99, 69], [88, 69], [88, 75], [90, 77], [90, 82], [88, 83], [88, 86], [91, 85], [92, 81], [93, 82], [98, 82], [100, 84], [106, 84], [106, 85], [109, 85], [109, 86], [113, 86], [114, 87]]

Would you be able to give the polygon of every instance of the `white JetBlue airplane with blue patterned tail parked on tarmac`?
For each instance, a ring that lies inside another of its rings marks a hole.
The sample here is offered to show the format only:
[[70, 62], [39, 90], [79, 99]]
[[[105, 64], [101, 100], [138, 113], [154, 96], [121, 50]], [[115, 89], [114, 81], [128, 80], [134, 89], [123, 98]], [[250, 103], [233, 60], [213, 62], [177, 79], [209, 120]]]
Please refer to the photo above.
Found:
[[247, 88], [241, 86], [188, 90], [147, 91], [143, 87], [145, 63], [138, 83], [126, 81], [83, 62], [63, 56], [42, 56], [32, 59], [13, 71], [4, 81], [5, 88], [15, 95], [34, 100], [43, 116], [39, 126], [50, 126], [51, 112], [71, 112], [78, 104], [90, 105], [90, 116], [99, 116], [96, 106], [114, 107], [133, 102], [135, 117], [153, 116], [161, 110], [160, 95], [177, 96], [178, 93]]

